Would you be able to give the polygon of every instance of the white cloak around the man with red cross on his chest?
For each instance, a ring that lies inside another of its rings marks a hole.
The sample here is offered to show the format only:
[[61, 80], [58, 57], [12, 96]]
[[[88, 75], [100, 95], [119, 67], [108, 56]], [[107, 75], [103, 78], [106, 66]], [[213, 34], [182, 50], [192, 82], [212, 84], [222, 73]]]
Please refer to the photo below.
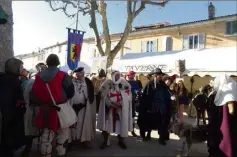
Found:
[[[128, 132], [133, 130], [133, 118], [132, 118], [132, 98], [131, 98], [131, 87], [126, 80], [122, 80], [121, 84], [123, 86], [122, 90], [119, 90], [122, 97], [122, 108], [118, 111], [120, 120], [116, 121], [115, 124], [115, 133], [119, 134], [121, 137], [128, 137]], [[106, 80], [101, 86], [101, 102], [99, 107], [98, 122], [97, 128], [101, 131], [107, 131], [108, 133], [114, 133], [113, 129], [113, 114], [112, 109], [108, 112], [108, 117], [106, 118], [105, 105], [106, 99], [108, 99], [108, 94], [111, 92], [110, 87], [114, 84], [112, 80]], [[118, 86], [118, 85], [115, 85]], [[130, 93], [127, 94], [124, 87], [129, 87]], [[117, 87], [115, 87], [117, 88]]]

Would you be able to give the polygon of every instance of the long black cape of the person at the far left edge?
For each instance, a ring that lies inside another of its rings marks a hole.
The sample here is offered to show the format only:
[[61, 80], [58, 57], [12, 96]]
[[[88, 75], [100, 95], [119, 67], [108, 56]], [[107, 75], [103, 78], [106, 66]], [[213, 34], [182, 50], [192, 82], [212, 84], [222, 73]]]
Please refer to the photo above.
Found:
[[[21, 81], [17, 76], [0, 74], [0, 110], [2, 114], [1, 149], [16, 150], [25, 144], [25, 108], [17, 107], [24, 101]], [[0, 150], [1, 150], [0, 149]]]

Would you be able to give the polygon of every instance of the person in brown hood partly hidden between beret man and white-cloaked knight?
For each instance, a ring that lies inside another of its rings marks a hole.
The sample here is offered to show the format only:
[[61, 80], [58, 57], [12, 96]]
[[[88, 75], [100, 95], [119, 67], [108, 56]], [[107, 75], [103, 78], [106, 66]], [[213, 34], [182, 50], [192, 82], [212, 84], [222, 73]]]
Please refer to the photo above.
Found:
[[97, 77], [92, 77], [91, 81], [95, 88], [95, 97], [96, 97], [96, 112], [99, 111], [99, 105], [100, 105], [100, 86], [102, 83], [106, 80], [106, 73], [104, 69], [99, 70], [99, 75]]

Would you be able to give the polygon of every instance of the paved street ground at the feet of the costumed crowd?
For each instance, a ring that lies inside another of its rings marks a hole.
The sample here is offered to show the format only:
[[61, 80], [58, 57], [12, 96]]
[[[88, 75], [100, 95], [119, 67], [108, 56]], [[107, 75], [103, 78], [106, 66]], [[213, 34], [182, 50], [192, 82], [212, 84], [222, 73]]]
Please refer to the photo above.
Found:
[[[195, 123], [194, 119], [187, 118], [185, 116], [185, 122]], [[139, 130], [136, 130], [138, 133]], [[127, 150], [122, 150], [117, 145], [117, 138], [113, 136], [111, 138], [111, 146], [105, 150], [100, 150], [99, 146], [102, 142], [100, 132], [97, 132], [96, 139], [93, 141], [93, 148], [90, 150], [84, 150], [81, 148], [73, 148], [69, 157], [78, 156], [173, 156], [175, 157], [179, 152], [177, 149], [180, 148], [181, 142], [178, 137], [171, 134], [171, 139], [168, 141], [166, 146], [161, 146], [158, 143], [157, 132], [152, 132], [152, 141], [143, 142], [140, 139], [129, 137], [127, 139]], [[38, 153], [32, 155], [38, 156]], [[189, 156], [203, 156], [207, 155], [206, 143], [193, 144], [191, 153]]]

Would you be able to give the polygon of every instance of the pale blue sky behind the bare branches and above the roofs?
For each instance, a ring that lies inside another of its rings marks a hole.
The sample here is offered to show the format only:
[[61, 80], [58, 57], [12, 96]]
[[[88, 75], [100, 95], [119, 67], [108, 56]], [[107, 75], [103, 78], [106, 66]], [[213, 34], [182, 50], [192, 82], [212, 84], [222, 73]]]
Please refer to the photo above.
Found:
[[[237, 13], [237, 2], [213, 1], [213, 4], [216, 7], [216, 16]], [[207, 7], [208, 1], [171, 1], [165, 8], [147, 6], [133, 26], [159, 22], [177, 24], [206, 19]], [[109, 2], [107, 12], [110, 32], [122, 32], [126, 22], [125, 2]], [[15, 55], [31, 53], [38, 48], [66, 41], [66, 27], [75, 28], [75, 18], [68, 19], [60, 11], [51, 11], [49, 5], [43, 1], [13, 1], [13, 15]], [[86, 37], [93, 36], [93, 31], [88, 26], [89, 20], [88, 16], [79, 15], [79, 29], [86, 31]]]

